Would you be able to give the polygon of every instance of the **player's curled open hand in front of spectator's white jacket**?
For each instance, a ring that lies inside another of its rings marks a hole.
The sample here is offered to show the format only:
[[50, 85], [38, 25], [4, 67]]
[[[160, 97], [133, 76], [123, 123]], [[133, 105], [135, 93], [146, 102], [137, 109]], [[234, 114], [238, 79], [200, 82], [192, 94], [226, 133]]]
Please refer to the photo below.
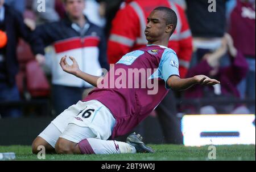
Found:
[[71, 61], [73, 62], [72, 65], [68, 65], [66, 58], [67, 58], [67, 55], [65, 55], [63, 58], [61, 58], [61, 60], [60, 60], [61, 68], [63, 69], [63, 71], [68, 72], [69, 74], [76, 75], [77, 72], [80, 71], [80, 69], [79, 69], [79, 65], [77, 64], [75, 58], [69, 57], [69, 59], [71, 59]]

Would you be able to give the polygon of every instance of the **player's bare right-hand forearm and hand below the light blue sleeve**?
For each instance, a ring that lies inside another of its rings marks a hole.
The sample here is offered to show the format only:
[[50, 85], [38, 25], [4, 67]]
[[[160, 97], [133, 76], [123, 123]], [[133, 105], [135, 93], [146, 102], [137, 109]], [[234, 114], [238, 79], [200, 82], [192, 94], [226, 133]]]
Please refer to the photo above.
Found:
[[196, 75], [192, 78], [181, 79], [179, 76], [173, 75], [167, 80], [168, 86], [175, 91], [182, 91], [192, 87], [195, 84], [215, 85], [220, 84], [216, 79], [210, 79], [205, 75]]

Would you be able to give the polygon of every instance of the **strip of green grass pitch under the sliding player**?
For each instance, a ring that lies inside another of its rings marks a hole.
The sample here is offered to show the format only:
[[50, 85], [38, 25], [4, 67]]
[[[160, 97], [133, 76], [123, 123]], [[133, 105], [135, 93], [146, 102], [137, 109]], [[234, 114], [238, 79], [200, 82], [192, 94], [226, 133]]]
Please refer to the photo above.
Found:
[[[59, 161], [207, 161], [208, 147], [184, 147], [183, 145], [149, 145], [154, 154], [109, 154], [109, 155], [59, 155], [46, 154], [46, 160]], [[16, 160], [38, 160], [31, 153], [30, 146], [0, 146], [0, 152], [15, 152]], [[220, 145], [216, 146], [216, 160], [253, 160], [255, 161], [255, 145]], [[40, 160], [41, 161], [41, 160]]]

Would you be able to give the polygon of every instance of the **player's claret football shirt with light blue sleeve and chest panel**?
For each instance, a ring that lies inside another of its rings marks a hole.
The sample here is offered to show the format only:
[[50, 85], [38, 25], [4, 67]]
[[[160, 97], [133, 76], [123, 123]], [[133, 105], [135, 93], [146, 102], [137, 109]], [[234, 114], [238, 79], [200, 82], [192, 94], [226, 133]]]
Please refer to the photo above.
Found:
[[98, 100], [112, 112], [115, 126], [112, 139], [129, 133], [168, 93], [167, 80], [179, 76], [179, 61], [174, 50], [165, 46], [147, 45], [124, 55], [102, 84], [84, 101]]

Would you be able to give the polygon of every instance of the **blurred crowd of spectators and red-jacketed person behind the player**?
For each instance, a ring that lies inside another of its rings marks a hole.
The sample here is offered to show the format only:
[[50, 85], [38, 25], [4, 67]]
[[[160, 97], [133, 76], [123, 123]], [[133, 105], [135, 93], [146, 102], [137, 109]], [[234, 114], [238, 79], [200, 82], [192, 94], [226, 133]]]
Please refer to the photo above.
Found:
[[166, 137], [179, 113], [255, 114], [255, 0], [0, 0], [1, 117], [27, 115], [42, 100], [56, 116], [84, 98], [92, 86], [61, 71], [60, 58], [71, 55], [82, 71], [101, 75], [147, 44], [146, 18], [157, 6], [178, 16], [169, 47], [180, 76], [221, 81], [170, 91], [152, 113]]

